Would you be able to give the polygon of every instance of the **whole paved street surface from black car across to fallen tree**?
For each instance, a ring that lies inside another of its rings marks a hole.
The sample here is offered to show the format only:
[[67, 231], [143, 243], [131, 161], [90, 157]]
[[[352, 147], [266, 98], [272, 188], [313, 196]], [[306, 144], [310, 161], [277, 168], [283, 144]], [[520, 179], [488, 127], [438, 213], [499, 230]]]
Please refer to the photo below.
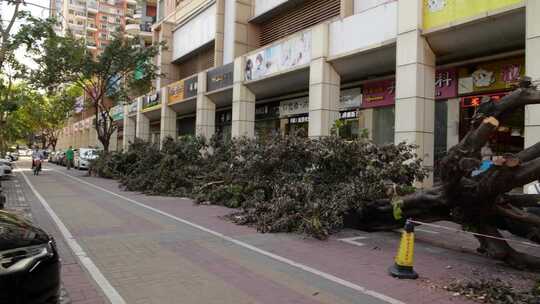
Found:
[[121, 191], [52, 164], [33, 176], [28, 167], [19, 162], [15, 182], [69, 262], [72, 303], [468, 303], [432, 284], [468, 277], [473, 266], [502, 273], [489, 259], [420, 243], [421, 279], [396, 280], [387, 275], [396, 233], [348, 231], [325, 242], [261, 234], [222, 219], [230, 212], [222, 207]]

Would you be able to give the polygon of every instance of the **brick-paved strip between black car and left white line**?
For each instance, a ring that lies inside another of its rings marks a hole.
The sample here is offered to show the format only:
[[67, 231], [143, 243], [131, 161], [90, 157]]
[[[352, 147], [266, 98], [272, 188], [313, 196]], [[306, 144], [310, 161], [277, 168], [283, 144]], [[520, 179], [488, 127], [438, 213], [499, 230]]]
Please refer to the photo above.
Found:
[[79, 264], [79, 260], [73, 255], [62, 234], [20, 173], [17, 172], [9, 179], [2, 180], [2, 188], [6, 195], [5, 210], [23, 215], [54, 237], [62, 262], [60, 304], [108, 303]]

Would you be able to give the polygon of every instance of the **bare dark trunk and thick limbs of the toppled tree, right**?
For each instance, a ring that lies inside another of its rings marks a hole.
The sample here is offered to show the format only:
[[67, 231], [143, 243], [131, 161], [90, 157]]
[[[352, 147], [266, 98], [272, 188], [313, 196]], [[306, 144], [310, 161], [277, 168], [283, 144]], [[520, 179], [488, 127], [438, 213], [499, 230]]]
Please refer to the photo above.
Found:
[[441, 161], [441, 183], [429, 190], [393, 199], [362, 202], [356, 210], [355, 223], [369, 230], [398, 228], [400, 217], [422, 222], [448, 220], [476, 236], [478, 251], [518, 268], [540, 271], [540, 258], [517, 252], [500, 231], [540, 242], [540, 195], [512, 194], [540, 177], [540, 143], [517, 154], [505, 154], [480, 174], [473, 174], [481, 164], [481, 148], [505, 117], [526, 105], [540, 103], [540, 91], [530, 79], [499, 101], [482, 100], [467, 135], [452, 147]]

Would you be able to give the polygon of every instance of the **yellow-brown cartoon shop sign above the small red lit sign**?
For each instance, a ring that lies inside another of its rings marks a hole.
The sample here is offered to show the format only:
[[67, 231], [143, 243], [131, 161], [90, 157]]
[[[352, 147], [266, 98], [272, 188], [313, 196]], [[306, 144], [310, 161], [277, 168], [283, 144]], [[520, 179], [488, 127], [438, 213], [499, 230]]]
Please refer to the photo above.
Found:
[[459, 69], [459, 94], [509, 90], [525, 75], [523, 57]]

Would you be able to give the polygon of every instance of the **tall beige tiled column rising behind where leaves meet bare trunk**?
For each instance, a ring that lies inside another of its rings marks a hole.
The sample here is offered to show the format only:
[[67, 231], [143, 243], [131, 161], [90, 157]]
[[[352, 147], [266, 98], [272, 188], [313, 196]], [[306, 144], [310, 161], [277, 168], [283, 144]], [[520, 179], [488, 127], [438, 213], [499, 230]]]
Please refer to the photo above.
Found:
[[[395, 142], [418, 146], [423, 165], [433, 167], [435, 54], [422, 36], [421, 0], [399, 0], [396, 50]], [[433, 184], [428, 177], [423, 185]]]

